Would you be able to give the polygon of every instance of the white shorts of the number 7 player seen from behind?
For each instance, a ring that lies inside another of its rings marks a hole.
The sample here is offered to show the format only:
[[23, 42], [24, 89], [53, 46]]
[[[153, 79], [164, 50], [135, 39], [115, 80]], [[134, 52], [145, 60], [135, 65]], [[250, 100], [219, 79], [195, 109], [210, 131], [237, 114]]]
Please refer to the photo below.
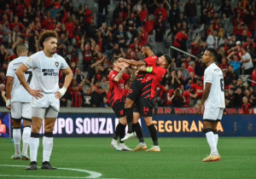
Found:
[[31, 119], [31, 115], [32, 111], [30, 102], [12, 102], [11, 117], [13, 119]]

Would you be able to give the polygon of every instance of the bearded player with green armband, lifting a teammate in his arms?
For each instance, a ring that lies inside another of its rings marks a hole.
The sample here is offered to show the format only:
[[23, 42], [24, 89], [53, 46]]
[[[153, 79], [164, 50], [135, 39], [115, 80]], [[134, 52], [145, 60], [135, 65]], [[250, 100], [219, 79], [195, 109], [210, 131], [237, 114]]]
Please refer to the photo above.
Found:
[[[154, 95], [157, 86], [160, 84], [160, 81], [166, 76], [166, 67], [171, 63], [172, 59], [169, 55], [162, 55], [157, 59], [157, 66], [141, 66], [138, 71], [139, 72], [147, 72], [141, 78], [137, 78], [136, 85], [131, 84], [130, 93], [128, 93], [127, 98], [131, 100], [134, 104], [134, 101], [138, 101], [139, 103], [139, 111], [144, 116], [145, 124], [148, 126], [148, 130], [150, 132], [150, 136], [153, 140], [154, 147], [151, 147], [147, 150], [147, 152], [160, 152], [160, 147], [158, 145], [157, 133], [154, 128], [154, 124], [152, 121], [153, 108], [155, 106]], [[126, 61], [125, 61], [126, 62]], [[127, 61], [128, 62], [128, 61]], [[132, 62], [135, 66], [137, 66], [140, 62]], [[129, 64], [129, 62], [128, 62]], [[130, 64], [131, 65], [131, 64]], [[138, 83], [139, 82], [139, 83]], [[135, 91], [135, 93], [131, 93]], [[126, 114], [126, 117], [128, 115]], [[133, 125], [135, 127], [135, 131], [140, 130], [135, 126], [138, 124], [138, 118], [133, 118]], [[131, 134], [127, 134], [123, 141], [128, 140]], [[140, 136], [137, 136], [140, 139]], [[145, 147], [143, 141], [137, 145], [133, 151], [142, 150]]]

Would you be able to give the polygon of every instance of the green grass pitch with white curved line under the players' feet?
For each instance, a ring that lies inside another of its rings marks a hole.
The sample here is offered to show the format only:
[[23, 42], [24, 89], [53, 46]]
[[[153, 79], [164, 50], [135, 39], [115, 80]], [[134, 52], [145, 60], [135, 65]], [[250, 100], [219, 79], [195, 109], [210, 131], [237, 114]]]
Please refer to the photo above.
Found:
[[[256, 137], [219, 137], [221, 160], [212, 163], [201, 162], [210, 152], [205, 137], [160, 138], [160, 153], [118, 152], [110, 147], [111, 140], [55, 138], [50, 163], [55, 167], [96, 171], [102, 174], [101, 178], [256, 178]], [[145, 138], [145, 141], [151, 147], [151, 139]], [[136, 147], [137, 142], [133, 139], [126, 145]], [[89, 176], [71, 170], [41, 170], [42, 138], [38, 150], [38, 170], [34, 171], [25, 170], [25, 167], [2, 166], [29, 165], [29, 161], [10, 159], [15, 148], [9, 139], [0, 139], [0, 147], [1, 179]]]

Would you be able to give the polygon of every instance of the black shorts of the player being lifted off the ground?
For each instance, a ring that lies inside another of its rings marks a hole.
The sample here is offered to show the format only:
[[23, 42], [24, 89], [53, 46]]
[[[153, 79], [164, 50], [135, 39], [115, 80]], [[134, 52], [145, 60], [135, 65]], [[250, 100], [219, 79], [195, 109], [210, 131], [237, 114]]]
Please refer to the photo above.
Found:
[[130, 90], [128, 90], [128, 95], [126, 98], [129, 98], [132, 101], [138, 101], [142, 90], [142, 84], [140, 80], [135, 79], [131, 83]]

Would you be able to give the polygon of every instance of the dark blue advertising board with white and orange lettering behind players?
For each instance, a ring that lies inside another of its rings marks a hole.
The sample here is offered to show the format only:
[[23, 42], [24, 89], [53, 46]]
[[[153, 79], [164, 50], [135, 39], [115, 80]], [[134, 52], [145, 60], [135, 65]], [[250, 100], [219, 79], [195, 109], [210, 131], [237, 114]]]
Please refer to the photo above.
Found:
[[[1, 117], [0, 136], [9, 137], [9, 113], [1, 113]], [[218, 124], [219, 136], [256, 136], [254, 117], [254, 115], [241, 114], [224, 115], [222, 123]], [[205, 136], [202, 132], [202, 117], [199, 115], [158, 114], [153, 118], [158, 136]], [[118, 123], [118, 118], [112, 113], [60, 113], [55, 123], [54, 135], [59, 137], [113, 136]], [[142, 125], [143, 136], [150, 136], [143, 120]], [[44, 133], [44, 130], [42, 129], [40, 133]]]

